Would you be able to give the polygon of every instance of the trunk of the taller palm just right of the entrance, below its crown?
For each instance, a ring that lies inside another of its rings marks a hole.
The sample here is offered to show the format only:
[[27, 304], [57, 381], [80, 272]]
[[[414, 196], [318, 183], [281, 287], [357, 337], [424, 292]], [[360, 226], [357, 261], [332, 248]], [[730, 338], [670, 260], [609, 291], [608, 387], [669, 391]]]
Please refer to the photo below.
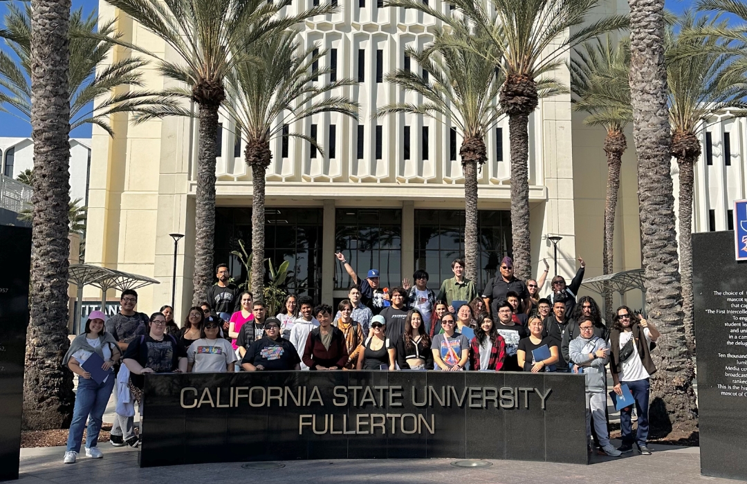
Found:
[[529, 114], [509, 116], [511, 143], [511, 236], [513, 263], [518, 279], [532, 278], [529, 232]]

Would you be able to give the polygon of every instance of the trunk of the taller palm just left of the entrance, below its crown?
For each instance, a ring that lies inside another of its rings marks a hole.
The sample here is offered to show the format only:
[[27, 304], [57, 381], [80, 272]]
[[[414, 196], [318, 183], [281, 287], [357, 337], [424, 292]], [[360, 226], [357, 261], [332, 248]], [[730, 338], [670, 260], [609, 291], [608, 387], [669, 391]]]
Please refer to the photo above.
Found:
[[199, 104], [199, 147], [194, 241], [192, 305], [205, 300], [213, 282], [215, 237], [215, 158], [219, 104]]

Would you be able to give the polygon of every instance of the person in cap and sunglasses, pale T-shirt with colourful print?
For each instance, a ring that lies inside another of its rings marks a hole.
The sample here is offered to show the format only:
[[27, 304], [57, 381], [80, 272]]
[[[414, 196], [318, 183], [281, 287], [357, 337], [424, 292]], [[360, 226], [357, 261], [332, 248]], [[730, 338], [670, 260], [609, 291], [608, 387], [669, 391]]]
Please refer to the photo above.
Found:
[[208, 316], [200, 329], [199, 339], [187, 348], [187, 371], [193, 373], [232, 373], [236, 354], [226, 338], [220, 338], [222, 322]]

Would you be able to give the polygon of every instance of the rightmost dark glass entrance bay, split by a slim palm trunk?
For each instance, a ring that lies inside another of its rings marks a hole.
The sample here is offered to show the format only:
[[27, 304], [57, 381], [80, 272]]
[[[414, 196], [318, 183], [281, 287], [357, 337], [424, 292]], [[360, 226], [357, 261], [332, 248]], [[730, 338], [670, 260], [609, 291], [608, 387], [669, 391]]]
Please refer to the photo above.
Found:
[[[427, 270], [428, 287], [438, 290], [453, 277], [451, 261], [464, 257], [463, 210], [415, 210], [415, 269]], [[494, 277], [500, 259], [511, 255], [511, 212], [480, 210], [477, 217], [479, 288]]]

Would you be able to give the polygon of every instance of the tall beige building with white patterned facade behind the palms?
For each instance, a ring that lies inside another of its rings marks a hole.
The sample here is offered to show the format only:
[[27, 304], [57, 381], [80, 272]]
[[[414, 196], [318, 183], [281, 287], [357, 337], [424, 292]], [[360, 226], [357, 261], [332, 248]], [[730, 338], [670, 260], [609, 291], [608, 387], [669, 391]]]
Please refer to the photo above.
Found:
[[[449, 11], [443, 0], [430, 2]], [[364, 276], [371, 268], [379, 269], [382, 284], [389, 287], [423, 268], [430, 273], [430, 286], [438, 288], [440, 279], [451, 276], [450, 261], [463, 253], [459, 136], [447, 122], [423, 117], [371, 118], [376, 107], [389, 102], [421, 102], [382, 82], [382, 76], [396, 68], [419, 69], [405, 57], [405, 47], [427, 45], [438, 23], [412, 10], [379, 8], [377, 3], [341, 2], [340, 13], [306, 22], [300, 34], [303, 46], [318, 43], [328, 49], [324, 63], [339, 76], [359, 78], [358, 86], [341, 90], [361, 103], [359, 121], [322, 114], [288, 126], [317, 137], [325, 155], [303, 140], [279, 137], [267, 170], [266, 256], [276, 264], [290, 261], [291, 291], [325, 302], [344, 297], [350, 285], [334, 257], [336, 250], [343, 250]], [[602, 3], [595, 16], [627, 8], [622, 0]], [[140, 25], [103, 1], [100, 9], [103, 17], [117, 16], [125, 40], [169, 57], [164, 43]], [[117, 49], [114, 59], [125, 55], [128, 52]], [[567, 71], [558, 77], [569, 81]], [[152, 88], [170, 83], [152, 71], [146, 79]], [[587, 128], [582, 120], [571, 113], [568, 95], [542, 99], [530, 117], [530, 229], [536, 273], [544, 267], [541, 259], [547, 258], [553, 275], [554, 252], [547, 236], [560, 235], [560, 274], [573, 276], [579, 255], [587, 263], [587, 277], [601, 274], [604, 132]], [[222, 117], [220, 122], [215, 261], [228, 261], [232, 273], [243, 278], [230, 252], [239, 240], [247, 245], [251, 240], [252, 176], [232, 120]], [[118, 115], [113, 125], [115, 139], [93, 128], [86, 262], [160, 280], [160, 285], [140, 291], [140, 310], [155, 311], [171, 298], [169, 234], [185, 234], [176, 279], [176, 317], [182, 318], [192, 292], [196, 122], [167, 119], [134, 125]], [[480, 285], [510, 252], [508, 136], [503, 120], [488, 136], [489, 161], [478, 174]], [[632, 137], [628, 139], [617, 216], [617, 270], [640, 267], [636, 168]], [[87, 296], [99, 297], [93, 291]], [[110, 294], [109, 299], [116, 297]], [[640, 305], [639, 300], [631, 304]]]

